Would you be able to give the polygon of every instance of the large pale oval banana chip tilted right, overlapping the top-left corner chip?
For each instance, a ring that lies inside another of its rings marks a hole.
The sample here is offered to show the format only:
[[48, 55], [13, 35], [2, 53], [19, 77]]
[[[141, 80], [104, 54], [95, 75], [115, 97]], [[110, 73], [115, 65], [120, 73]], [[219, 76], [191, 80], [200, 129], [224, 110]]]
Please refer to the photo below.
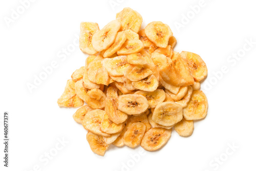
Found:
[[113, 20], [105, 27], [103, 27], [103, 29], [94, 33], [92, 36], [93, 48], [98, 52], [108, 49], [108, 47], [110, 47], [115, 41], [117, 32], [120, 27], [120, 22], [118, 22], [118, 20]]

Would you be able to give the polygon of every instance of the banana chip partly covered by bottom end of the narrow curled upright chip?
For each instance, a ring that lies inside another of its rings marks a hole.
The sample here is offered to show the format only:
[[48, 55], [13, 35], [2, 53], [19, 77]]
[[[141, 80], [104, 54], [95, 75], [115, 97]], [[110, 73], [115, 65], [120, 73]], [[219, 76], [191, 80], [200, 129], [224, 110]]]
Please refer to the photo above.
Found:
[[108, 114], [104, 114], [101, 124], [100, 124], [100, 131], [107, 133], [107, 134], [115, 134], [119, 133], [123, 130], [124, 123], [116, 124], [110, 120]]

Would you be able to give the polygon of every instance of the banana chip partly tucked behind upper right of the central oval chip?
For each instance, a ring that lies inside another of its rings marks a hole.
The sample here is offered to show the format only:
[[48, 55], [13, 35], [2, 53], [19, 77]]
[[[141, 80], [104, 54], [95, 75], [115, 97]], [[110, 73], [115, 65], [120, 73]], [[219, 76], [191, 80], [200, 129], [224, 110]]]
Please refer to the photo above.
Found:
[[156, 108], [156, 106], [161, 102], [163, 102], [166, 97], [164, 90], [160, 90], [160, 89], [157, 89], [154, 92], [145, 92], [140, 90], [135, 92], [134, 94], [139, 94], [144, 96], [147, 99], [148, 104], [150, 105], [150, 108]]

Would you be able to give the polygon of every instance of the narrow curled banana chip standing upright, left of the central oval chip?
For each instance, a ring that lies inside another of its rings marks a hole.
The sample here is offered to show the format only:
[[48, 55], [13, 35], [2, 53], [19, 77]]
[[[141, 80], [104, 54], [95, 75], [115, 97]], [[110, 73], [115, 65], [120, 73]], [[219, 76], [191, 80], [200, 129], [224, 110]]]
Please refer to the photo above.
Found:
[[127, 114], [119, 111], [118, 106], [118, 94], [117, 89], [109, 87], [106, 91], [106, 102], [105, 102], [105, 112], [108, 114], [111, 121], [116, 124], [124, 123], [127, 119]]

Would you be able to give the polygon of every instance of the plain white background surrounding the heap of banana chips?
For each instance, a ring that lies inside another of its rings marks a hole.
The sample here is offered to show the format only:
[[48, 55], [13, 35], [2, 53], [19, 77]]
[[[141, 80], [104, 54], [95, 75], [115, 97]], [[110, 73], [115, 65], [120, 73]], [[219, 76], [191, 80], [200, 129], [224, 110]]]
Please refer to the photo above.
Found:
[[[119, 171], [125, 170], [122, 167], [127, 162], [133, 165], [126, 170], [255, 170], [255, 2], [205, 0], [195, 16], [189, 12], [190, 6], [198, 5], [199, 0], [114, 2], [118, 4], [112, 8], [109, 0], [37, 0], [8, 27], [4, 17], [11, 17], [20, 2], [1, 1], [1, 139], [3, 113], [10, 115], [10, 163], [4, 170], [33, 170], [39, 165], [34, 170]], [[80, 22], [96, 22], [102, 28], [124, 7], [142, 15], [142, 27], [155, 20], [168, 24], [178, 41], [175, 51], [195, 52], [208, 67], [202, 84], [209, 103], [207, 117], [195, 122], [192, 136], [183, 138], [173, 131], [160, 151], [145, 152], [139, 161], [132, 161], [130, 155], [138, 154], [141, 147], [111, 146], [104, 157], [95, 155], [86, 140], [87, 131], [72, 118], [76, 109], [61, 109], [56, 102], [66, 81], [87, 57], [78, 47], [66, 59], [58, 57], [77, 40]], [[183, 28], [178, 29], [175, 22], [181, 23], [187, 14], [188, 24], [183, 21]], [[243, 51], [246, 39], [252, 39], [254, 45]], [[238, 52], [245, 52], [240, 60], [227, 61]], [[57, 68], [31, 93], [27, 83], [33, 83], [34, 76], [52, 61], [58, 62]], [[223, 66], [228, 72], [217, 79], [214, 73]], [[54, 151], [58, 138], [68, 141], [65, 147], [49, 163], [39, 160]], [[228, 144], [237, 148], [225, 158]], [[2, 141], [0, 148], [2, 170]], [[220, 157], [225, 161], [216, 165]]]

